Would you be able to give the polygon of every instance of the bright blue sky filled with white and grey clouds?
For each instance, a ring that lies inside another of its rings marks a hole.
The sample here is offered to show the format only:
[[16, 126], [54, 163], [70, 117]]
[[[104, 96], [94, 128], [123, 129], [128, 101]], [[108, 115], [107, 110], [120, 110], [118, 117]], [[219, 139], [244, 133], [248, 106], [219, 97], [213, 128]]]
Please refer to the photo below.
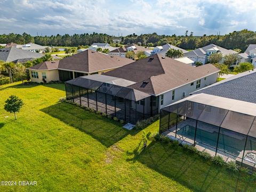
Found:
[[255, 0], [0, 0], [0, 34], [211, 35], [256, 31], [255, 18]]

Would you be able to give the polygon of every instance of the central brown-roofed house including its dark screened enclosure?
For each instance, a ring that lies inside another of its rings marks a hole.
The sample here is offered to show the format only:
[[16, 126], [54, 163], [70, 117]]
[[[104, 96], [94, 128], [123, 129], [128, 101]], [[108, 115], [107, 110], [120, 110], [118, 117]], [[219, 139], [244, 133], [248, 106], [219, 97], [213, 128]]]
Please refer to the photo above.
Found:
[[80, 105], [135, 124], [190, 92], [215, 83], [218, 72], [211, 64], [195, 68], [154, 54], [102, 75], [72, 79], [66, 82], [66, 93]]

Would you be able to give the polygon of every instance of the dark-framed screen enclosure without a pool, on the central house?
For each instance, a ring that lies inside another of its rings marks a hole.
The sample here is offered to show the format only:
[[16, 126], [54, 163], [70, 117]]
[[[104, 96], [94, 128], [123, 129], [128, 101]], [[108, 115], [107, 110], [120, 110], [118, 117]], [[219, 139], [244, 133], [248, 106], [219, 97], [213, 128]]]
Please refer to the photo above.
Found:
[[125, 122], [136, 124], [158, 114], [158, 97], [130, 87], [78, 77], [65, 82], [66, 98]]

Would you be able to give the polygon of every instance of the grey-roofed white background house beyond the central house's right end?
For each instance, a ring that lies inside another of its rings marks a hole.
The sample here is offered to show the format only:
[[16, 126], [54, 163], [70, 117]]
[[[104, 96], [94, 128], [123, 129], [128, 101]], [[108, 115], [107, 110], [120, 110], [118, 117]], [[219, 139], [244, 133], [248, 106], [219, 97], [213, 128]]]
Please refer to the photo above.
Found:
[[[208, 57], [213, 53], [222, 53], [223, 57], [225, 57], [225, 55], [228, 55], [231, 53], [237, 53], [237, 52], [234, 50], [227, 50], [223, 47], [220, 47], [214, 44], [210, 44], [210, 45], [206, 45], [204, 47], [198, 48], [196, 50], [192, 50], [187, 53], [184, 53], [184, 57], [188, 57], [194, 62], [201, 61], [203, 64], [205, 64], [208, 62]], [[223, 59], [221, 60], [221, 63], [222, 62], [223, 62]]]

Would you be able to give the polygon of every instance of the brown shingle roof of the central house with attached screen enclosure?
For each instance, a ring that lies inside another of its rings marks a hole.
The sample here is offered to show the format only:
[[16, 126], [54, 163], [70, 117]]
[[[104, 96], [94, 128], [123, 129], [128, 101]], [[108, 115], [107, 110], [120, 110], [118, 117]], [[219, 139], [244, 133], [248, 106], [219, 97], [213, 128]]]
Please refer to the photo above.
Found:
[[150, 58], [135, 61], [105, 75], [121, 77], [137, 82], [129, 87], [149, 94], [161, 94], [176, 87], [194, 82], [204, 76], [217, 73], [211, 64], [192, 67], [171, 58], [155, 54]]

